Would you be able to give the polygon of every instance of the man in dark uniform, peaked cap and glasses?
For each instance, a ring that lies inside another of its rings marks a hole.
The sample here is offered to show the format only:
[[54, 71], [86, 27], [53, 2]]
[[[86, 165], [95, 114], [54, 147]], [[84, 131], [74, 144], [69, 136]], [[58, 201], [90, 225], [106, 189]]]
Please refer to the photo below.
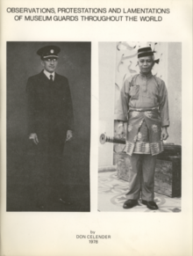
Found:
[[48, 199], [66, 202], [67, 189], [62, 186], [62, 151], [73, 136], [73, 107], [68, 79], [55, 72], [58, 54], [56, 46], [40, 48], [43, 70], [27, 81], [28, 133], [34, 148], [35, 165], [32, 183], [38, 208], [45, 208]]

